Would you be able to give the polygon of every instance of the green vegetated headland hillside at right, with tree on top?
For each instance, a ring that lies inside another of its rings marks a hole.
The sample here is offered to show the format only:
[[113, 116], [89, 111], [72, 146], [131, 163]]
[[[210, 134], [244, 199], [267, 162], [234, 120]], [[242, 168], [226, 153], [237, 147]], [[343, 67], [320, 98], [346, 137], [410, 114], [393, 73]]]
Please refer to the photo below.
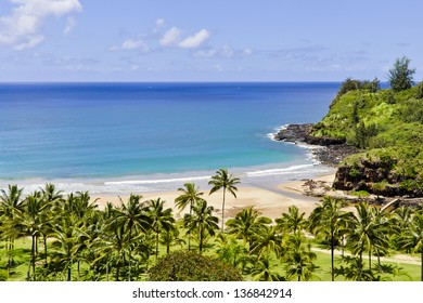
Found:
[[[403, 61], [394, 69], [409, 64]], [[402, 74], [411, 83], [410, 73]], [[343, 161], [335, 188], [423, 196], [423, 82], [403, 87], [380, 90], [377, 79], [343, 82], [329, 114], [312, 130], [313, 136], [344, 139], [362, 150]]]

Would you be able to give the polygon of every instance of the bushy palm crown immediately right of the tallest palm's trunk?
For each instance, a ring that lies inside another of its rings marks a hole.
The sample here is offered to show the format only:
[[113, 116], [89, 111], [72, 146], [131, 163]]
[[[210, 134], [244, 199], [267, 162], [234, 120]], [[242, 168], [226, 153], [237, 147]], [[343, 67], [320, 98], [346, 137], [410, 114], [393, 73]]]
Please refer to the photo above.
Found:
[[264, 226], [271, 223], [271, 219], [260, 216], [260, 212], [249, 207], [238, 212], [235, 218], [229, 219], [227, 226], [229, 234], [243, 239], [244, 245], [248, 243], [248, 252], [251, 252], [255, 235], [260, 234]]

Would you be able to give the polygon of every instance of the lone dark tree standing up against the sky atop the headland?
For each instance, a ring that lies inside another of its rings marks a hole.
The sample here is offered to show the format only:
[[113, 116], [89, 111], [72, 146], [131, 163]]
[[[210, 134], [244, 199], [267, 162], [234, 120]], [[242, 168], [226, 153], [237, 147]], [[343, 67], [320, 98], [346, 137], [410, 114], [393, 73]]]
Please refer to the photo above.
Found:
[[389, 69], [388, 80], [390, 88], [395, 92], [400, 92], [410, 89], [413, 84], [413, 75], [415, 68], [410, 68], [411, 60], [402, 56], [397, 58], [394, 63], [394, 67]]

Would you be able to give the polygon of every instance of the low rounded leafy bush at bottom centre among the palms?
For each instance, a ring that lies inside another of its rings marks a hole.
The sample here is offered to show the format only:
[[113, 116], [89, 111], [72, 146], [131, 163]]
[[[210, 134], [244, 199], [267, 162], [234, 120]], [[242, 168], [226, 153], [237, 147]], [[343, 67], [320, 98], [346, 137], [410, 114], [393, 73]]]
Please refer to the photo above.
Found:
[[192, 251], [176, 251], [158, 260], [149, 272], [152, 281], [242, 281], [241, 273], [217, 259]]

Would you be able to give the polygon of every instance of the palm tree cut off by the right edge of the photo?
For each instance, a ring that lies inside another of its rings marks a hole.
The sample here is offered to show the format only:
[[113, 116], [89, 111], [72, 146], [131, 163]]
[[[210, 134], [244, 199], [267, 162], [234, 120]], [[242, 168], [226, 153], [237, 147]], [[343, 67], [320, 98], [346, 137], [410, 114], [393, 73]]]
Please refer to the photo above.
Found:
[[423, 213], [415, 213], [411, 224], [405, 230], [400, 240], [403, 249], [412, 249], [414, 252], [420, 251], [421, 255], [421, 280], [423, 281]]

